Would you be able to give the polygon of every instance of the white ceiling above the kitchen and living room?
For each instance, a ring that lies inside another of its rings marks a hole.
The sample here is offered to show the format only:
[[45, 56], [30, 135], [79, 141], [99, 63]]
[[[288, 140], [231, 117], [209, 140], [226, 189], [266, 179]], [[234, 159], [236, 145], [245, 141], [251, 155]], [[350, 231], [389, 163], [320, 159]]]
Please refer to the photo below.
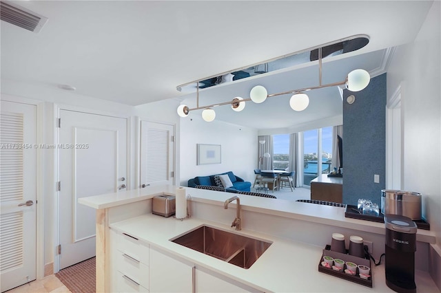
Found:
[[[126, 105], [196, 95], [176, 86], [358, 34], [362, 49], [324, 59], [323, 83], [352, 69], [387, 70], [391, 47], [412, 42], [432, 1], [9, 1], [48, 18], [38, 34], [1, 21], [1, 80], [72, 85], [76, 93]], [[200, 104], [318, 85], [317, 61], [203, 89]], [[61, 90], [61, 89], [60, 89]], [[247, 102], [216, 119], [269, 129], [342, 115], [338, 89], [309, 91], [309, 107], [289, 96]], [[199, 116], [201, 111], [190, 115]]]

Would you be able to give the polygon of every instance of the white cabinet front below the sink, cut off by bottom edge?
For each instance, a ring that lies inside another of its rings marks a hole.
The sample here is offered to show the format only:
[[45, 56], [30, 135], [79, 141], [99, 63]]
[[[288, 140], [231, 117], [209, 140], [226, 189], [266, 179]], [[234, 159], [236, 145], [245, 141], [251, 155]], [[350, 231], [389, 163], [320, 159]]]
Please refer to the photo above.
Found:
[[196, 269], [195, 274], [196, 292], [227, 293], [256, 291], [243, 284], [224, 278], [223, 276], [214, 276], [214, 273], [205, 270]]

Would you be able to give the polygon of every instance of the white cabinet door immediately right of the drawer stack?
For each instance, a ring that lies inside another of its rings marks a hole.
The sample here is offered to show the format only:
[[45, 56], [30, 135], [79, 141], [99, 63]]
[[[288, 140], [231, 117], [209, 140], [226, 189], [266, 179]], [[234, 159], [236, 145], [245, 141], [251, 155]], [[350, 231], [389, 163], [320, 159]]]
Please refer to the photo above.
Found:
[[193, 292], [193, 265], [150, 248], [150, 291]]

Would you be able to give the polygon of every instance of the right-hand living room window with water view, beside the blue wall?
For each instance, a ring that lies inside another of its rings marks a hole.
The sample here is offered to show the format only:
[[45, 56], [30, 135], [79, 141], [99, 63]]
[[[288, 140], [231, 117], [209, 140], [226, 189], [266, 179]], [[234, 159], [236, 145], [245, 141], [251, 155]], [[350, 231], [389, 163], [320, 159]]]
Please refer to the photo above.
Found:
[[303, 132], [303, 184], [331, 172], [332, 127]]

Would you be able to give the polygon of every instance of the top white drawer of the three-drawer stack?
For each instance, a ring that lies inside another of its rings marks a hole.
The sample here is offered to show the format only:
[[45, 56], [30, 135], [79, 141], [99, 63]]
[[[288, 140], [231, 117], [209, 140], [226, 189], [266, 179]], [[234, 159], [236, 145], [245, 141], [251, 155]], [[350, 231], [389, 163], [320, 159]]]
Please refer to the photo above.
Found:
[[145, 265], [149, 264], [149, 247], [139, 239], [119, 232], [116, 236], [116, 249]]

